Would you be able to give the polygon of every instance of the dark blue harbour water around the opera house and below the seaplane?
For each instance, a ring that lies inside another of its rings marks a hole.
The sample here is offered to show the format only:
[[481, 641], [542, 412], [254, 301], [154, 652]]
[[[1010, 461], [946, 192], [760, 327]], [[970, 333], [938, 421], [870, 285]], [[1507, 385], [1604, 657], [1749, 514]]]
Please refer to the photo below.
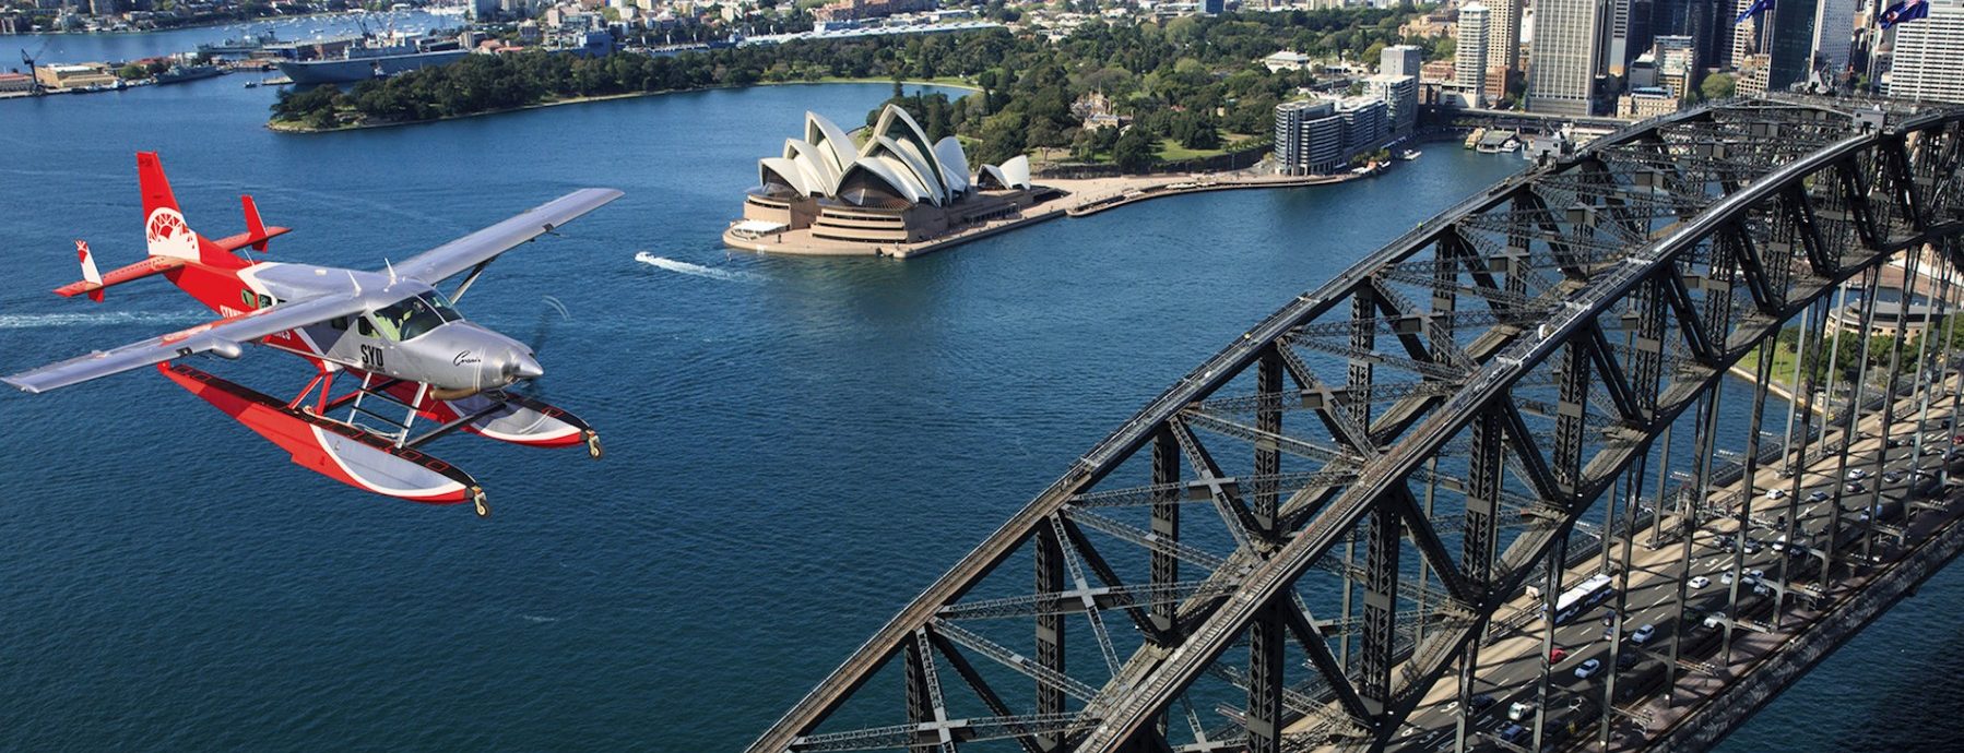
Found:
[[[220, 35], [222, 37], [222, 35]], [[326, 135], [224, 78], [0, 102], [0, 371], [198, 322], [165, 284], [61, 300], [71, 239], [141, 255], [137, 149], [191, 224], [251, 192], [273, 259], [379, 269], [577, 186], [627, 198], [491, 267], [465, 314], [540, 343], [607, 459], [452, 437], [493, 518], [348, 490], [145, 373], [0, 394], [0, 749], [729, 751], [1070, 459], [1286, 298], [1524, 163], [1157, 200], [896, 263], [729, 255], [803, 110], [762, 86]], [[570, 322], [542, 296], [556, 296]], [[200, 361], [281, 394], [273, 353]], [[1730, 400], [1730, 398], [1728, 398]], [[1744, 400], [1730, 400], [1732, 406]], [[1964, 731], [1940, 575], [1730, 751]], [[1860, 690], [1852, 690], [1860, 688]], [[1954, 692], [1952, 692], [1954, 690]]]

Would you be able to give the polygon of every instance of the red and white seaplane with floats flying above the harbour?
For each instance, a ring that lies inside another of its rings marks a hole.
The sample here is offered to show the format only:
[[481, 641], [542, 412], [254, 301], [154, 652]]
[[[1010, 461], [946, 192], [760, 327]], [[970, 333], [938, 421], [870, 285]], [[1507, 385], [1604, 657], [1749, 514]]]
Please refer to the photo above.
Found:
[[[161, 275], [220, 320], [0, 380], [43, 392], [155, 365], [191, 394], [283, 447], [293, 463], [308, 471], [414, 502], [469, 500], [479, 516], [489, 514], [483, 488], [467, 473], [424, 453], [428, 441], [464, 429], [517, 445], [585, 445], [589, 455], [601, 455], [599, 435], [585, 422], [509, 390], [544, 375], [532, 349], [464, 320], [452, 302], [493, 259], [613, 202], [619, 190], [575, 190], [381, 273], [367, 273], [240, 255], [247, 247], [265, 251], [267, 241], [287, 233], [287, 227], [267, 227], [251, 196], [242, 196], [244, 233], [224, 239], [198, 235], [185, 224], [157, 155], [137, 153], [136, 167], [149, 257], [100, 275], [88, 243], [75, 241], [82, 280], [55, 292], [100, 302], [108, 286]], [[464, 280], [448, 298], [436, 292], [434, 282], [456, 275]], [[281, 400], [171, 363], [194, 353], [238, 359], [242, 343], [295, 353], [320, 373], [300, 394]], [[359, 386], [332, 394], [338, 375], [344, 382], [359, 380]], [[424, 420], [420, 431], [418, 418]]]

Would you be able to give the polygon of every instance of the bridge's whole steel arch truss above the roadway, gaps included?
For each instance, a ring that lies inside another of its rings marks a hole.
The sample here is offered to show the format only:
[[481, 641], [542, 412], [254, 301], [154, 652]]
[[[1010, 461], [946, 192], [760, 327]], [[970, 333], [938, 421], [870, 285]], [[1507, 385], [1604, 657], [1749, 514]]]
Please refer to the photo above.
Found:
[[1960, 143], [1964, 110], [1732, 102], [1467, 198], [1149, 402], [750, 749], [1381, 747], [1726, 367], [1956, 249]]

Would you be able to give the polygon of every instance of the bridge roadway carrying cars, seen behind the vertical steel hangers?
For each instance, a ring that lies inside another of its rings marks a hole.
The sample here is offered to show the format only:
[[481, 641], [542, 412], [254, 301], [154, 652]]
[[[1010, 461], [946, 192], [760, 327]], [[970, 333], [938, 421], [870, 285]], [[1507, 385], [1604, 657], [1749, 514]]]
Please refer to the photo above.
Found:
[[[1956, 380], [1952, 380], [1950, 384], [1956, 386]], [[1917, 445], [1913, 441], [1905, 441], [1903, 447], [1887, 449], [1887, 457], [1883, 461], [1885, 469], [1883, 473], [1876, 473], [1876, 453], [1883, 451], [1885, 443], [1883, 437], [1905, 437], [1905, 439], [1913, 437], [1913, 433], [1919, 431], [1919, 424], [1927, 424], [1921, 426], [1921, 431], [1927, 433], [1942, 431], [1944, 437], [1950, 435], [1950, 406], [1944, 406], [1940, 412], [1937, 410], [1937, 406], [1933, 406], [1929, 418], [1925, 422], [1919, 422], [1919, 418], [1923, 418], [1919, 410], [1921, 408], [1919, 400], [1921, 396], [1911, 394], [1897, 402], [1895, 412], [1899, 420], [1889, 427], [1889, 431], [1880, 431], [1882, 427], [1880, 410], [1858, 424], [1858, 439], [1848, 459], [1848, 473], [1864, 475], [1866, 478], [1862, 478], [1862, 482], [1864, 486], [1868, 486], [1868, 490], [1862, 494], [1844, 492], [1842, 494], [1844, 510], [1854, 512], [1874, 506], [1878, 494], [1883, 500], [1897, 500], [1901, 504], [1909, 502], [1909, 486], [1915, 480], [1915, 477], [1909, 475], [1909, 471], [1915, 467], [1915, 461], [1919, 459]], [[1825, 439], [1828, 443], [1836, 443], [1840, 439], [1840, 431], [1830, 429]], [[1948, 449], [1950, 441], [1944, 439], [1937, 445], [1931, 443], [1923, 445], [1927, 455], [1921, 455], [1923, 461], [1921, 467], [1925, 471], [1937, 473], [1938, 471], [1937, 467], [1942, 463], [1942, 455], [1929, 453], [1931, 447]], [[1846, 482], [1844, 478], [1836, 477], [1838, 463], [1840, 463], [1838, 457], [1828, 453], [1813, 461], [1805, 469], [1797, 504], [1797, 508], [1801, 510], [1797, 518], [1801, 522], [1799, 524], [1801, 531], [1823, 531], [1827, 527], [1828, 510], [1834, 504], [1834, 486]], [[1903, 473], [1903, 478], [1895, 482], [1885, 482], [1883, 480], [1885, 473]], [[1715, 502], [1738, 500], [1742, 484], [1744, 480], [1724, 488], [1715, 488], [1713, 500]], [[1783, 490], [1783, 494], [1793, 494], [1791, 484], [1793, 478], [1781, 473], [1779, 463], [1772, 463], [1756, 475], [1752, 486], [1756, 498], [1752, 516], [1754, 524], [1752, 529], [1748, 531], [1750, 539], [1760, 543], [1770, 543], [1783, 533], [1783, 526], [1777, 526], [1773, 516], [1785, 512], [1787, 498], [1783, 496], [1779, 500], [1770, 500], [1764, 492], [1770, 488], [1779, 488]], [[1813, 492], [1823, 492], [1827, 494], [1827, 498], [1811, 500]], [[1732, 582], [1732, 577], [1740, 571], [1760, 569], [1766, 573], [1766, 578], [1770, 582], [1779, 578], [1777, 563], [1785, 555], [1773, 553], [1770, 545], [1762, 545], [1756, 553], [1746, 555], [1742, 567], [1736, 567], [1738, 563], [1734, 561], [1734, 555], [1720, 547], [1720, 541], [1730, 537], [1738, 529], [1734, 512], [1736, 508], [1728, 506], [1726, 510], [1722, 510], [1722, 516], [1718, 518], [1705, 516], [1707, 522], [1699, 526], [1699, 529], [1693, 535], [1693, 557], [1689, 575], [1685, 575], [1683, 543], [1679, 539], [1667, 533], [1664, 541], [1652, 543], [1650, 527], [1644, 527], [1636, 533], [1638, 547], [1630, 553], [1632, 567], [1630, 567], [1628, 590], [1624, 594], [1626, 598], [1624, 635], [1634, 631], [1638, 626], [1648, 624], [1656, 628], [1656, 635], [1650, 641], [1646, 641], [1646, 645], [1640, 647], [1648, 649], [1642, 653], [1644, 661], [1667, 659], [1669, 641], [1673, 637], [1671, 633], [1675, 629], [1673, 614], [1677, 610], [1679, 578], [1683, 577], [1709, 578], [1709, 584], [1701, 588], [1687, 588], [1689, 596], [1685, 602], [1685, 614], [1687, 614], [1685, 624], [1695, 624], [1693, 620], [1699, 620], [1697, 618], [1699, 614], [1726, 612], [1728, 604], [1726, 590], [1730, 588], [1728, 582]], [[1948, 522], [1950, 516], [1946, 514], [1942, 516], [1942, 520]], [[1679, 524], [1681, 518], [1667, 514], [1664, 520], [1664, 531], [1679, 529], [1677, 527]], [[1856, 514], [1848, 514], [1844, 518], [1844, 526], [1860, 529]], [[1878, 559], [1885, 559], [1887, 557], [1885, 553], [1893, 551], [1893, 547], [1887, 545], [1889, 537], [1882, 529], [1878, 529], [1876, 539], [1878, 541], [1874, 553], [1878, 555]], [[1813, 541], [1819, 545], [1825, 543], [1825, 537], [1815, 535]], [[1860, 547], [1860, 541], [1856, 541], [1854, 545]], [[1612, 561], [1620, 561], [1622, 557], [1620, 549], [1622, 547], [1612, 547], [1610, 553]], [[1850, 561], [1856, 557], [1860, 557], [1858, 551], [1836, 553], [1836, 561]], [[1565, 571], [1561, 582], [1573, 584], [1599, 571], [1601, 571], [1601, 557], [1587, 557], [1577, 567]], [[1860, 577], [1860, 573], [1844, 575], [1836, 582], [1832, 592], [1827, 596], [1830, 600], [1840, 600], [1860, 590], [1866, 584], [1864, 580], [1866, 578]], [[1738, 598], [1752, 594], [1750, 582], [1752, 582], [1750, 578], [1740, 578]], [[1795, 590], [1801, 588], [1807, 588], [1807, 584], [1795, 584]], [[1805, 598], [1801, 596], [1795, 596], [1795, 600], [1805, 602]], [[1612, 604], [1614, 604], [1612, 600], [1607, 600], [1603, 606], [1589, 610], [1585, 616], [1579, 616], [1573, 622], [1555, 628], [1554, 645], [1563, 649], [1565, 655], [1552, 667], [1550, 675], [1552, 684], [1548, 694], [1550, 708], [1559, 710], [1573, 702], [1591, 702], [1591, 704], [1603, 702], [1605, 680], [1607, 675], [1610, 673], [1610, 645], [1607, 639], [1610, 628], [1605, 628], [1605, 620], [1609, 620]], [[1658, 731], [1664, 731], [1671, 724], [1683, 720], [1687, 714], [1695, 714], [1697, 704], [1709, 700], [1718, 690], [1718, 686], [1754, 671], [1756, 669], [1754, 665], [1760, 659], [1772, 653], [1772, 649], [1775, 649], [1781, 641], [1791, 639], [1797, 633], [1805, 631], [1807, 626], [1811, 626], [1817, 618], [1821, 618], [1828, 608], [1832, 606], [1827, 606], [1825, 610], [1817, 612], [1809, 610], [1805, 604], [1793, 604], [1783, 612], [1785, 618], [1783, 626], [1770, 626], [1772, 616], [1764, 618], [1766, 622], [1762, 622], [1760, 628], [1773, 628], [1772, 631], [1760, 633], [1752, 628], [1740, 628], [1732, 639], [1734, 663], [1722, 675], [1713, 673], [1713, 669], [1718, 669], [1715, 665], [1720, 665], [1724, 661], [1722, 649], [1720, 653], [1713, 653], [1711, 657], [1689, 657], [1689, 655], [1683, 657], [1683, 663], [1679, 665], [1681, 667], [1679, 684], [1673, 686], [1671, 690], [1681, 702], [1691, 700], [1691, 704], [1677, 704], [1677, 706], [1664, 704], [1662, 686], [1650, 690], [1644, 696], [1634, 698], [1632, 702], [1618, 704], [1618, 708], [1622, 708], [1624, 714], [1618, 714], [1618, 720], [1614, 720], [1616, 735], [1610, 741], [1610, 749], [1638, 749], [1646, 739], [1654, 737]], [[1506, 604], [1499, 614], [1514, 614], [1516, 610], [1540, 612], [1540, 600], [1522, 594], [1514, 598], [1510, 604]], [[1508, 720], [1508, 706], [1512, 702], [1532, 704], [1536, 700], [1536, 682], [1542, 675], [1540, 657], [1544, 645], [1544, 629], [1542, 629], [1544, 624], [1546, 624], [1544, 620], [1534, 620], [1522, 629], [1514, 631], [1512, 635], [1500, 637], [1481, 649], [1479, 655], [1481, 661], [1475, 671], [1475, 686], [1471, 688], [1471, 694], [1487, 696], [1493, 702], [1469, 714], [1467, 720], [1469, 737], [1465, 749], [1475, 749], [1475, 751], [1508, 749], [1508, 745], [1499, 741], [1500, 733], [1510, 724], [1514, 724], [1512, 720]], [[1622, 651], [1630, 653], [1634, 645], [1624, 641]], [[1577, 678], [1575, 669], [1591, 659], [1601, 661], [1603, 669], [1591, 678]], [[1451, 680], [1438, 682], [1434, 684], [1432, 692], [1426, 694], [1426, 700], [1414, 710], [1406, 726], [1396, 733], [1394, 737], [1396, 741], [1391, 747], [1406, 751], [1455, 751], [1459, 747], [1455, 735], [1459, 716], [1461, 714], [1459, 714], [1457, 682]], [[1632, 716], [1646, 718], [1646, 724], [1640, 728], [1638, 722], [1632, 720]], [[1308, 722], [1312, 720], [1298, 722], [1296, 729], [1292, 731], [1308, 728]], [[1534, 728], [1532, 714], [1524, 718], [1520, 726], [1528, 735], [1532, 735]], [[1571, 739], [1567, 739], [1567, 743], [1577, 743], [1585, 739], [1593, 743], [1597, 739], [1597, 729], [1599, 729], [1597, 722], [1589, 722], [1581, 731], [1577, 731]], [[1546, 739], [1552, 741], [1554, 729], [1548, 729], [1548, 733], [1550, 737]], [[1528, 749], [1528, 745], [1530, 741], [1522, 739], [1520, 749]]]

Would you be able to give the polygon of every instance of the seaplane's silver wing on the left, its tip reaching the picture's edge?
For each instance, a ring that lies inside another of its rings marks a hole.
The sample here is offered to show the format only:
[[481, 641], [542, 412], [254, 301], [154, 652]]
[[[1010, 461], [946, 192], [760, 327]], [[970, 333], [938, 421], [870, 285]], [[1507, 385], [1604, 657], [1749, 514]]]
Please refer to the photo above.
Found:
[[369, 302], [359, 292], [332, 292], [318, 298], [287, 300], [247, 314], [206, 322], [169, 335], [151, 337], [110, 351], [94, 351], [77, 359], [51, 363], [41, 369], [24, 371], [14, 376], [0, 376], [0, 382], [14, 384], [27, 392], [47, 392], [118, 375], [130, 369], [171, 361], [177, 357], [216, 351], [228, 359], [240, 355], [240, 343], [249, 343], [265, 335], [293, 327], [320, 324], [332, 318], [361, 314]]

